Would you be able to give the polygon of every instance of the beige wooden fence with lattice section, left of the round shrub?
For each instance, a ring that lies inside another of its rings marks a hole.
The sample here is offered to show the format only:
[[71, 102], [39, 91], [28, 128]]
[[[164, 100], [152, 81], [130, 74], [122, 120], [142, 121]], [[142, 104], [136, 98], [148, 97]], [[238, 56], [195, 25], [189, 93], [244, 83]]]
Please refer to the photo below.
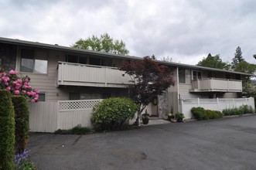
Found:
[[100, 102], [101, 100], [60, 100], [29, 104], [30, 131], [54, 132], [77, 125], [92, 127], [92, 109]]

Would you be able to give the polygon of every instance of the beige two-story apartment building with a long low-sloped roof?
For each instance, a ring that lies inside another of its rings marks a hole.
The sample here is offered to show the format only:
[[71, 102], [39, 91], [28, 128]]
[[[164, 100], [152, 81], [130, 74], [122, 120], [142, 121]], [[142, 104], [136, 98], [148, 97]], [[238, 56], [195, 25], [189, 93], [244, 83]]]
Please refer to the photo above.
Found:
[[[86, 49], [0, 38], [0, 58], [5, 70], [15, 69], [39, 88], [40, 102], [128, 97], [130, 76], [118, 70], [124, 60], [142, 59]], [[166, 117], [179, 110], [181, 99], [241, 97], [243, 76], [228, 70], [159, 61], [169, 66], [176, 80], [164, 95], [148, 106], [149, 114]]]

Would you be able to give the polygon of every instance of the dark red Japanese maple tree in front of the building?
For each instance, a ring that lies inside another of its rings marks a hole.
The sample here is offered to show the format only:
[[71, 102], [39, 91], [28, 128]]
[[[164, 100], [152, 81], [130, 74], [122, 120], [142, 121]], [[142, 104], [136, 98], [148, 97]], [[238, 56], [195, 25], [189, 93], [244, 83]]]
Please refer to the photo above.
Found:
[[136, 124], [138, 124], [138, 118], [142, 111], [154, 97], [162, 95], [168, 87], [175, 84], [170, 76], [168, 66], [157, 62], [155, 56], [145, 56], [142, 60], [125, 61], [119, 70], [130, 75], [133, 82], [128, 88], [130, 97], [140, 106]]

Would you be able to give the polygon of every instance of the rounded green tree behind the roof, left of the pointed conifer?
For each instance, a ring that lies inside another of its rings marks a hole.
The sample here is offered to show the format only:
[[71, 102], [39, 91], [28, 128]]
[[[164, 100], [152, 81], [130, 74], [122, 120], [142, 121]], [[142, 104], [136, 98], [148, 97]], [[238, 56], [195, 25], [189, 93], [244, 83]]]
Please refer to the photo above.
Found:
[[203, 59], [196, 64], [197, 66], [206, 66], [221, 70], [229, 70], [230, 65], [225, 63], [220, 59], [220, 55], [217, 54], [216, 56], [212, 56], [210, 53], [208, 54], [207, 58], [203, 57]]

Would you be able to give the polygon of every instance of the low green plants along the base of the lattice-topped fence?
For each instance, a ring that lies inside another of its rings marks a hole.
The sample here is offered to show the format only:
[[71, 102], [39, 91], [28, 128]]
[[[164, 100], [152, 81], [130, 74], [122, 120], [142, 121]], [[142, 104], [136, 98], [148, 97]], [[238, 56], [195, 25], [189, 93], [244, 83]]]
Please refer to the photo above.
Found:
[[76, 126], [69, 130], [58, 129], [54, 133], [55, 134], [91, 134], [92, 132], [93, 131], [90, 128]]

